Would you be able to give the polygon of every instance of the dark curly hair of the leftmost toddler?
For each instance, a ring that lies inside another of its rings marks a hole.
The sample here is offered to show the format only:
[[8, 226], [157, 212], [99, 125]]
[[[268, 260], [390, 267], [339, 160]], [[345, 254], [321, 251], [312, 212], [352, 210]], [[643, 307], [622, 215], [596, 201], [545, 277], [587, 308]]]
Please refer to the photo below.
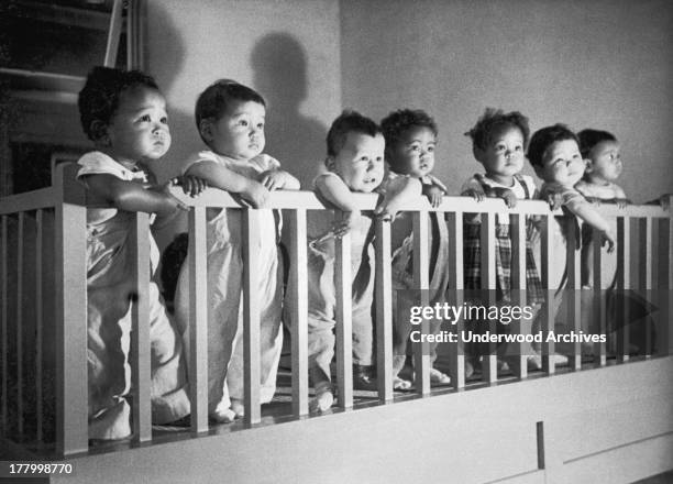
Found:
[[123, 91], [136, 86], [159, 90], [156, 81], [140, 70], [122, 70], [112, 67], [93, 67], [79, 91], [77, 105], [81, 128], [89, 140], [98, 141], [100, 133], [91, 124], [100, 121], [108, 125], [119, 108]]

